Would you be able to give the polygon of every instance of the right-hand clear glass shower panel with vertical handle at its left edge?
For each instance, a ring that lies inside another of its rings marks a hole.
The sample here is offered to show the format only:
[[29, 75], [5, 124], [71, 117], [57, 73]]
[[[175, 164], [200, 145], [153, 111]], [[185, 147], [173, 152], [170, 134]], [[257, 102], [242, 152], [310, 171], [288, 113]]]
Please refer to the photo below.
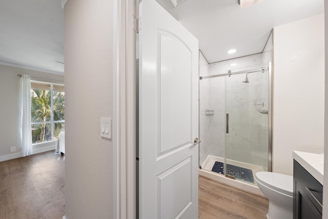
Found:
[[268, 171], [268, 78], [267, 70], [226, 76], [224, 174], [251, 184]]

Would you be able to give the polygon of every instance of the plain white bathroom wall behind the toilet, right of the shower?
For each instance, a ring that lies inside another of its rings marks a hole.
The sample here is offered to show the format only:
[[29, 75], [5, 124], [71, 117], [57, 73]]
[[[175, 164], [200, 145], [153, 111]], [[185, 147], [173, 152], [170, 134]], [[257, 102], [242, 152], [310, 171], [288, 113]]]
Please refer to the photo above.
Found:
[[293, 150], [323, 152], [323, 18], [274, 28], [274, 172], [293, 174]]

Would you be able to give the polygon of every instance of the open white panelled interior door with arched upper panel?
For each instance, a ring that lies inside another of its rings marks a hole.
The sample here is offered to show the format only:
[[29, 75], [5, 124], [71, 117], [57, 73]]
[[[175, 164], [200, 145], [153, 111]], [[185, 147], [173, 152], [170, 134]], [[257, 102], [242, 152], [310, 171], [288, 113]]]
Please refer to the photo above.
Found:
[[139, 218], [198, 218], [198, 40], [139, 4]]

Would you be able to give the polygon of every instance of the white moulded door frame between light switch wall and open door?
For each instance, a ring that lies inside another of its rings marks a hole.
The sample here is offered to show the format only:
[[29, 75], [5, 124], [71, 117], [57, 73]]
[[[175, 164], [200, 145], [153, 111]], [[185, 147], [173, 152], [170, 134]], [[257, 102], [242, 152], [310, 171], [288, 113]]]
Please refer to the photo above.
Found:
[[136, 0], [113, 1], [113, 216], [136, 218]]

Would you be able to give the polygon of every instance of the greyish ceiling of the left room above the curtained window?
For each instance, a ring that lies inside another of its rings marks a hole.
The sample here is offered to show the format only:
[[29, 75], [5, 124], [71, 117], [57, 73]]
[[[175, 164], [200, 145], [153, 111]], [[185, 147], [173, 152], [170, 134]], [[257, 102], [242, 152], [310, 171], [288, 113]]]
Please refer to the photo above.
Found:
[[0, 64], [64, 74], [59, 0], [0, 0]]

